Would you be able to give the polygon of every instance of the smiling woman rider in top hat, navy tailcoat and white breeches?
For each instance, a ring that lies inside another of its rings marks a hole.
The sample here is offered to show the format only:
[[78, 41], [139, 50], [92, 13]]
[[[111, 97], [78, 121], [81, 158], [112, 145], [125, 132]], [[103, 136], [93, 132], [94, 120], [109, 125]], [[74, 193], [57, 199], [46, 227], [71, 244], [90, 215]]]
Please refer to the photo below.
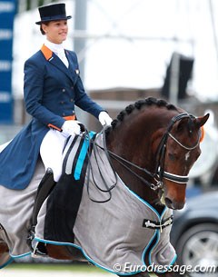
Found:
[[51, 168], [54, 182], [59, 180], [66, 139], [80, 134], [74, 104], [103, 125], [112, 122], [104, 108], [85, 94], [76, 54], [64, 49], [67, 20], [72, 17], [66, 16], [65, 5], [41, 6], [39, 14], [36, 25], [45, 44], [25, 62], [25, 108], [33, 119], [0, 153], [0, 183], [12, 189], [30, 183], [39, 153], [45, 170]]

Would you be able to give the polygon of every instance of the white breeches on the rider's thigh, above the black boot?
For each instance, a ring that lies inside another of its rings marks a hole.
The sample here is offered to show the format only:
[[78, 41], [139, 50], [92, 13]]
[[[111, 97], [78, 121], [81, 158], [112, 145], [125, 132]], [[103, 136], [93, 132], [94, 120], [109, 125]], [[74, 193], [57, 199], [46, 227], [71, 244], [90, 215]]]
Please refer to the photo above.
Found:
[[51, 129], [45, 134], [40, 147], [40, 155], [47, 168], [51, 168], [54, 173], [54, 181], [58, 182], [62, 174], [63, 150], [68, 136], [57, 130]]

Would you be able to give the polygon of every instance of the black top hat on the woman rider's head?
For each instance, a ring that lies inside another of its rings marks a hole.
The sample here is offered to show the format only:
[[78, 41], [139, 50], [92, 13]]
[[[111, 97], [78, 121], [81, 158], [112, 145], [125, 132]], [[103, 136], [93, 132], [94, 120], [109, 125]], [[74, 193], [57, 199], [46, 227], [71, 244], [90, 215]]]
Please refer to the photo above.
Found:
[[54, 20], [66, 20], [72, 17], [71, 15], [66, 16], [64, 3], [40, 6], [38, 10], [41, 21], [35, 22], [37, 25]]

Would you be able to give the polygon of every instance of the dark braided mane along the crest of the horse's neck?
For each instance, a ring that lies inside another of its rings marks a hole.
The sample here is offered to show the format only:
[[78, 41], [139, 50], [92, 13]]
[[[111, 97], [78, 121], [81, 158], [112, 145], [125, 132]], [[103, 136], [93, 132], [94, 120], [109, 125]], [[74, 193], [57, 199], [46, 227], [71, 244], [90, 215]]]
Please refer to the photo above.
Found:
[[113, 130], [118, 123], [122, 123], [125, 115], [131, 114], [135, 109], [140, 110], [145, 105], [151, 106], [154, 104], [158, 107], [165, 107], [167, 110], [178, 111], [178, 109], [173, 104], [169, 104], [163, 99], [148, 97], [142, 100], [138, 100], [134, 104], [129, 104], [128, 106], [126, 106], [125, 109], [117, 115], [116, 119], [114, 119], [114, 121], [112, 122], [112, 127], [107, 128], [106, 134]]

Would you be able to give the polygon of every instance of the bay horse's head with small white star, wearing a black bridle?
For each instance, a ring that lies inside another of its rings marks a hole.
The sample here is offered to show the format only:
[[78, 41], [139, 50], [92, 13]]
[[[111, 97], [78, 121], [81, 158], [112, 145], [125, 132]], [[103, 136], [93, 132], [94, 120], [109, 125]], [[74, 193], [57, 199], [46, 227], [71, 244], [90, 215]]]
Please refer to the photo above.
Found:
[[201, 154], [203, 124], [208, 118], [209, 114], [202, 117], [177, 114], [166, 129], [159, 130], [156, 173], [163, 185], [162, 202], [171, 209], [183, 208], [188, 174]]

